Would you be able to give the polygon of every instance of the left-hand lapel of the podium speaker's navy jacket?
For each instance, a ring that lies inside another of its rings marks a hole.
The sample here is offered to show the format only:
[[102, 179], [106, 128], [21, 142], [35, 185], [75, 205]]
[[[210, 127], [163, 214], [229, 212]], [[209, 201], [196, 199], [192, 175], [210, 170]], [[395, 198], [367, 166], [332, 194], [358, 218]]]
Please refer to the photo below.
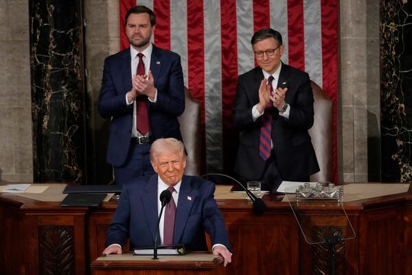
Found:
[[[146, 195], [141, 196], [141, 200], [143, 201], [148, 229], [150, 234], [152, 234], [152, 240], [155, 241], [157, 217], [159, 216], [157, 210], [157, 174], [150, 177], [148, 184], [146, 184]], [[159, 236], [157, 238], [157, 243], [160, 244]]]

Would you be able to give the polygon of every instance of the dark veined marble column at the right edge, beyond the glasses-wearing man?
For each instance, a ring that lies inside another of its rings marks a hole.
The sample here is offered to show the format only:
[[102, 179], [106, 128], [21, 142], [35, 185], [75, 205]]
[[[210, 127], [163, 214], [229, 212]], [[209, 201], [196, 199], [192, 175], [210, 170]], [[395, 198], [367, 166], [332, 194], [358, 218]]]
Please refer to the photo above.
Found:
[[412, 1], [380, 0], [382, 181], [412, 181]]

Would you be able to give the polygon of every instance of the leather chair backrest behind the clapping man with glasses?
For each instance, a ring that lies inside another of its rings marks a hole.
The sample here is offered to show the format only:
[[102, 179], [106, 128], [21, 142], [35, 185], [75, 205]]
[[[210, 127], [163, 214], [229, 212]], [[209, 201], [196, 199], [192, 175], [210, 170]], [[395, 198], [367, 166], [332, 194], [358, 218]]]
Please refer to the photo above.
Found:
[[314, 123], [309, 130], [321, 170], [310, 176], [310, 181], [333, 179], [333, 102], [313, 81], [310, 81], [314, 98]]

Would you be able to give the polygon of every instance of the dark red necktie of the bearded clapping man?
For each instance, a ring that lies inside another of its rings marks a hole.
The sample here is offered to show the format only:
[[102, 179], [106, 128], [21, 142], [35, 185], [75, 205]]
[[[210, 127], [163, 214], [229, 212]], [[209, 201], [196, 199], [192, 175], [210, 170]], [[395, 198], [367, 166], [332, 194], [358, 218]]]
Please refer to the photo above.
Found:
[[[139, 64], [137, 65], [136, 74], [138, 76], [144, 76], [144, 55], [139, 52], [137, 56], [139, 56]], [[146, 135], [149, 132], [148, 103], [146, 96], [138, 96], [136, 98], [136, 128], [142, 135]]]

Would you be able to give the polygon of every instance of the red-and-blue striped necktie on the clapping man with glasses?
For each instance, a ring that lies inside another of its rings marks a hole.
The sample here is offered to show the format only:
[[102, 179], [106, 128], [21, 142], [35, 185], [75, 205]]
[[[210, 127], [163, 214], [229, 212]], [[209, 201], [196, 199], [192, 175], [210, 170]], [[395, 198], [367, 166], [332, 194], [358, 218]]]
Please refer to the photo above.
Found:
[[[268, 77], [268, 85], [271, 85], [271, 94], [273, 92], [272, 81], [273, 76]], [[262, 116], [262, 127], [260, 127], [260, 146], [259, 155], [266, 161], [271, 156], [272, 151], [272, 114], [269, 111], [271, 108], [271, 102], [268, 103], [264, 109], [264, 114]]]

